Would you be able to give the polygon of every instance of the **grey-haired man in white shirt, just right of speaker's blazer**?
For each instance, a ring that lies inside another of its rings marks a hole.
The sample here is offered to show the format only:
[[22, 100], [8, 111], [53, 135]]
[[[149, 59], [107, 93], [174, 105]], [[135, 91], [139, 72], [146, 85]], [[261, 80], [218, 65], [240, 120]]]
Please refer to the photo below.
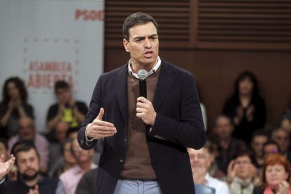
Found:
[[200, 150], [188, 148], [188, 153], [190, 157], [194, 183], [215, 188], [216, 194], [229, 193], [228, 186], [225, 182], [213, 178], [207, 172], [214, 160], [214, 146], [212, 143], [207, 141], [204, 147]]

